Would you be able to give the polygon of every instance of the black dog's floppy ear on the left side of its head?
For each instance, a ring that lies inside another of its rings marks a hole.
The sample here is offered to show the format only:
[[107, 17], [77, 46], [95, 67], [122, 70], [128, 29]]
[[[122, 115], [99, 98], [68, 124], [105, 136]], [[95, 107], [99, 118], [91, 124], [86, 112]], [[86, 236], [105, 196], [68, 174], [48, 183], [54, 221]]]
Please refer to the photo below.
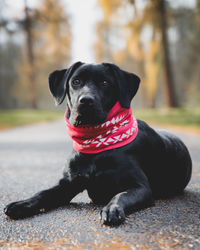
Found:
[[49, 75], [49, 89], [57, 105], [64, 101], [68, 91], [69, 79], [82, 64], [82, 62], [76, 62], [68, 69], [55, 70]]

